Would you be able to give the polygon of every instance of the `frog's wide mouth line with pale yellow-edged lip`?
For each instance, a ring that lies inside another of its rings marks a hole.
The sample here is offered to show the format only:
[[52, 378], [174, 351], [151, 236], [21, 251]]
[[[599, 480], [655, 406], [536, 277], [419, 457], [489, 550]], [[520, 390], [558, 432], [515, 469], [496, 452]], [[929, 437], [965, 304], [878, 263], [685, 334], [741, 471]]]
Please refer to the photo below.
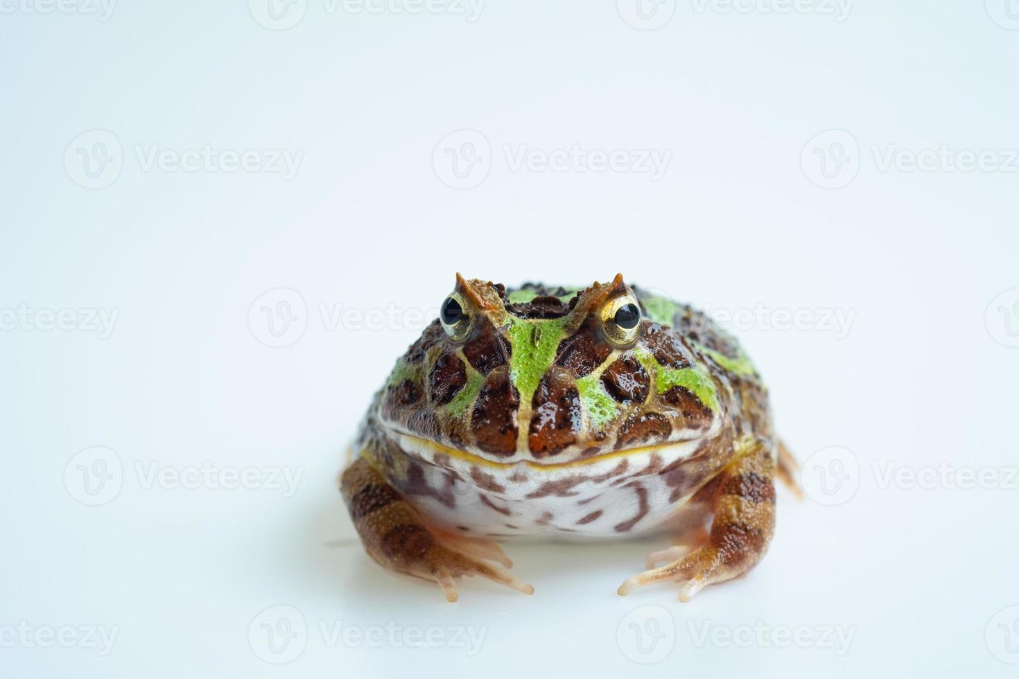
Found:
[[450, 448], [449, 446], [444, 446], [430, 439], [424, 439], [413, 434], [404, 434], [399, 432], [392, 432], [392, 434], [395, 438], [395, 442], [400, 449], [404, 450], [404, 452], [430, 464], [444, 466], [440, 462], [440, 460], [444, 457], [451, 462], [459, 463], [457, 466], [465, 464], [478, 465], [503, 470], [520, 468], [523, 466], [528, 469], [535, 469], [538, 471], [558, 471], [576, 467], [598, 467], [602, 465], [612, 466], [621, 459], [628, 459], [632, 462], [637, 462], [638, 464], [641, 459], [646, 459], [650, 464], [652, 457], [655, 455], [659, 456], [659, 459], [661, 460], [672, 462], [678, 459], [691, 457], [697, 452], [704, 441], [703, 438], [698, 437], [696, 439], [665, 442], [653, 446], [623, 448], [620, 450], [612, 450], [581, 458], [565, 459], [562, 461], [541, 462], [539, 460], [535, 460], [534, 458], [523, 457], [520, 453], [517, 453], [513, 457], [508, 457], [505, 460], [497, 461], [468, 450]]

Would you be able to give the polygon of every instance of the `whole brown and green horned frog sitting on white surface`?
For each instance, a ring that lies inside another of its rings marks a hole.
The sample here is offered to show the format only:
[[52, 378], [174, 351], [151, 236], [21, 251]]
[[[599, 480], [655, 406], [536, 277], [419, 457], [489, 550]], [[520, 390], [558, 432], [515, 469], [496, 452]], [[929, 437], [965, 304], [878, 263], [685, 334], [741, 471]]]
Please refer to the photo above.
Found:
[[534, 592], [500, 543], [662, 534], [616, 592], [674, 582], [689, 602], [764, 556], [775, 478], [800, 495], [739, 342], [621, 274], [507, 288], [458, 273], [347, 457], [339, 488], [365, 551], [449, 602], [461, 576]]

